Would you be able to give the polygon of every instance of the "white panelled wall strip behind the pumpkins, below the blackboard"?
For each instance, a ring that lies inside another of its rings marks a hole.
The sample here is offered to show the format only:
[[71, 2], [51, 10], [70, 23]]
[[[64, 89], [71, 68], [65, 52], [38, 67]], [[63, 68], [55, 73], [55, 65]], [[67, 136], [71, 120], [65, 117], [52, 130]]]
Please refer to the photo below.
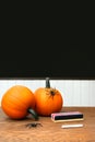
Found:
[[[45, 80], [0, 80], [0, 99], [13, 85], [25, 85], [34, 92], [45, 86]], [[94, 80], [50, 80], [50, 85], [61, 92], [63, 106], [95, 106]]]

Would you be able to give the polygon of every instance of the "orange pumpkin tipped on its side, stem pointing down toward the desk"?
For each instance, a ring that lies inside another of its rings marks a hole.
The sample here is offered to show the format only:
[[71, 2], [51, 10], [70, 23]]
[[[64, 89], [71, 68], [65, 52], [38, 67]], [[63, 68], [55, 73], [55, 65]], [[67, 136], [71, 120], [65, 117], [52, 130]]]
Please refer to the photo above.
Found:
[[28, 114], [38, 119], [34, 93], [23, 85], [14, 85], [3, 94], [1, 108], [12, 119], [23, 119]]

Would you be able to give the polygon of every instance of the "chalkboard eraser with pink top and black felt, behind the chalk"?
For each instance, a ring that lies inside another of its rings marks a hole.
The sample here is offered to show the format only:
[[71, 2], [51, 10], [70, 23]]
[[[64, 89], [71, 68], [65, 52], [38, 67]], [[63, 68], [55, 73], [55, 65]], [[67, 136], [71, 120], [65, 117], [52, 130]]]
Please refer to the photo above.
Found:
[[83, 114], [80, 111], [67, 111], [67, 113], [54, 113], [51, 114], [52, 120], [68, 120], [83, 118]]

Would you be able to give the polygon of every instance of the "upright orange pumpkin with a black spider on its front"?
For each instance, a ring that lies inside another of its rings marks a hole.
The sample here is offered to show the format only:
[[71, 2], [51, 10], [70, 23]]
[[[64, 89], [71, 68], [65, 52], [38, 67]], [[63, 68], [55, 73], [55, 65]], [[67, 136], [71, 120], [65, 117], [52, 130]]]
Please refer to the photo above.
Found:
[[61, 93], [50, 87], [49, 78], [46, 78], [46, 87], [39, 87], [34, 92], [36, 100], [36, 113], [40, 116], [50, 116], [59, 113], [63, 105]]

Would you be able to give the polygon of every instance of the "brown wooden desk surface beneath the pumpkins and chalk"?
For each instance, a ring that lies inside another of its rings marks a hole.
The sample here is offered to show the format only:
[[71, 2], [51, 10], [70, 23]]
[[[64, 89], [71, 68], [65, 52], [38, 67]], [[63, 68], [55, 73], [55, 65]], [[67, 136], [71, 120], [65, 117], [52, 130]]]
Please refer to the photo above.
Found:
[[[63, 107], [62, 111], [82, 111], [84, 120], [56, 123], [39, 117], [43, 127], [26, 128], [32, 118], [11, 120], [0, 108], [0, 142], [95, 142], [95, 107]], [[83, 123], [82, 128], [61, 129], [61, 125]]]

